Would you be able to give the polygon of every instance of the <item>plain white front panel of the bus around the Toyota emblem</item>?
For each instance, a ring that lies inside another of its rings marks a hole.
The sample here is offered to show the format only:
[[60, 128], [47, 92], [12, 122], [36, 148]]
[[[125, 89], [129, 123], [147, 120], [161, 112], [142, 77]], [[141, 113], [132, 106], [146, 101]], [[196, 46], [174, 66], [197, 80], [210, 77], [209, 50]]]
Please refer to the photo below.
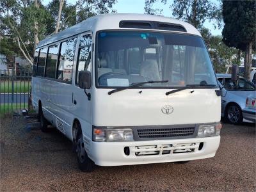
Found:
[[[220, 97], [214, 89], [189, 88], [165, 95], [170, 90], [136, 88], [108, 95], [109, 89], [98, 89], [93, 95], [93, 125], [141, 126], [220, 122]], [[142, 92], [139, 93], [140, 91]], [[161, 111], [166, 105], [173, 108], [173, 112], [168, 115]]]

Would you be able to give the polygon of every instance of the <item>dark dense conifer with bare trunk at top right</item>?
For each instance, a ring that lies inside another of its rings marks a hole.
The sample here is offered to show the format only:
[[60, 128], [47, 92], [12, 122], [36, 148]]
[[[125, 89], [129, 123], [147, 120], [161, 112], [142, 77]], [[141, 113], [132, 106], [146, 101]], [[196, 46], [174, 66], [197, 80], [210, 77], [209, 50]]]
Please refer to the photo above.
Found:
[[245, 51], [244, 77], [250, 79], [256, 40], [256, 1], [223, 1], [222, 13], [225, 23], [223, 42], [228, 47]]

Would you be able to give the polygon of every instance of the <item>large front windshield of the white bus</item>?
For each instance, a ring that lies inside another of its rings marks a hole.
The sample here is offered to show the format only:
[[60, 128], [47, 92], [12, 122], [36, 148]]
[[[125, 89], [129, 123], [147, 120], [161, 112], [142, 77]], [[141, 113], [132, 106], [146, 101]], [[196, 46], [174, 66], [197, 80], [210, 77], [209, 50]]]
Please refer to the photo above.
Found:
[[163, 32], [100, 31], [96, 46], [96, 83], [124, 87], [216, 86], [216, 77], [200, 36]]

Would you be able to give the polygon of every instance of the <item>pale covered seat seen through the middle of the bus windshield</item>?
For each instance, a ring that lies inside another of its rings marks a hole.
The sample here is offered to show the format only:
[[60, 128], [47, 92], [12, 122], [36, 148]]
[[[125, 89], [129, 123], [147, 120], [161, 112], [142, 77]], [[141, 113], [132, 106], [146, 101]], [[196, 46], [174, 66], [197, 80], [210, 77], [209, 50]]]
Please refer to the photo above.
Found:
[[160, 81], [158, 65], [155, 60], [145, 60], [141, 64], [140, 75], [153, 81]]

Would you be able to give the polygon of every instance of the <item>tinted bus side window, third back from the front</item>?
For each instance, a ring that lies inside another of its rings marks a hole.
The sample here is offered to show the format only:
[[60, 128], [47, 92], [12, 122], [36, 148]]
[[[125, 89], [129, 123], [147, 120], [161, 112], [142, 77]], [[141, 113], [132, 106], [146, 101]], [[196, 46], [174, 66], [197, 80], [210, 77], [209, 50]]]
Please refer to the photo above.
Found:
[[58, 60], [59, 45], [51, 45], [49, 47], [45, 77], [55, 78], [56, 65]]

